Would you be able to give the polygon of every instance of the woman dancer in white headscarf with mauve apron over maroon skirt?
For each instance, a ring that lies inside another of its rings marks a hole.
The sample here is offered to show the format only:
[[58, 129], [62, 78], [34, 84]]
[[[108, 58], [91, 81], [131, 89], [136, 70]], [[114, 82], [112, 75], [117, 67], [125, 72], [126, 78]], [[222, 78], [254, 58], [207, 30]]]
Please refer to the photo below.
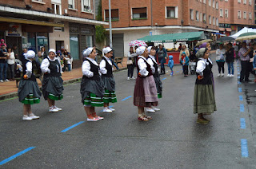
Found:
[[149, 53], [145, 46], [136, 49], [138, 56], [137, 69], [138, 77], [134, 88], [134, 105], [138, 106], [138, 120], [148, 121], [151, 116], [146, 116], [144, 107], [158, 106], [158, 92], [155, 86], [152, 69], [146, 58]]

